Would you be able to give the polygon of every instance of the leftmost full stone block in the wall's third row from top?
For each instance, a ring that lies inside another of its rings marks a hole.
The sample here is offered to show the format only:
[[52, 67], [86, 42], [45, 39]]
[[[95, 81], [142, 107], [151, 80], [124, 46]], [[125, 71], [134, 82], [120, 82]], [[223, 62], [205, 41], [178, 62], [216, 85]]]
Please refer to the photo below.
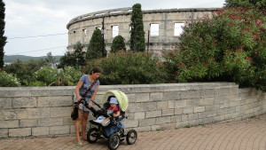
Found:
[[27, 109], [5, 109], [4, 120], [27, 119]]

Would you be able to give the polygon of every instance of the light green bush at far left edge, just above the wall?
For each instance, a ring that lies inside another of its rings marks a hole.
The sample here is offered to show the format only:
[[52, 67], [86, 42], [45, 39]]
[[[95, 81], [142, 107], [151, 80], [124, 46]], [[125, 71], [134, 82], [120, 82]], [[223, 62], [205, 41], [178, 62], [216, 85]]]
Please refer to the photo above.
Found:
[[11, 74], [0, 72], [0, 87], [15, 87], [20, 86], [19, 80]]

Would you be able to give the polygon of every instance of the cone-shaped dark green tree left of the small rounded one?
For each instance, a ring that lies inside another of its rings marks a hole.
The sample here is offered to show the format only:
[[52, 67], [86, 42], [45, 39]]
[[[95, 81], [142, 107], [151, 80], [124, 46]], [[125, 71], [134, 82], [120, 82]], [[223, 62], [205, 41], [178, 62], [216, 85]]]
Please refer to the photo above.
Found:
[[[101, 35], [101, 30], [96, 28], [90, 38], [88, 50], [86, 52], [86, 59], [99, 59], [104, 57], [105, 43]], [[103, 45], [104, 44], [104, 45]]]

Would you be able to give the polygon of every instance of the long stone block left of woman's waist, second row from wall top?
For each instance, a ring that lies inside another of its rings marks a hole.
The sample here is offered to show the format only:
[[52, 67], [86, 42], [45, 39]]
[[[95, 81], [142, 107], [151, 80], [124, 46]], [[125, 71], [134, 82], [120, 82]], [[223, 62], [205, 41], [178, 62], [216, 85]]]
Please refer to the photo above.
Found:
[[70, 107], [73, 104], [72, 96], [38, 97], [38, 107]]

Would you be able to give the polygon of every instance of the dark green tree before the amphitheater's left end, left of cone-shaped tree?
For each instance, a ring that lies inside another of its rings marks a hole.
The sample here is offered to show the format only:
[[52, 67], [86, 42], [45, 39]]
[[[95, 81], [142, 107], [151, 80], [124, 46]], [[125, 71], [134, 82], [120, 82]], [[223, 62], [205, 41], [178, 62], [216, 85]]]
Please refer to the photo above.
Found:
[[69, 67], [82, 67], [86, 65], [85, 61], [85, 52], [82, 51], [84, 45], [82, 43], [74, 44], [74, 52], [67, 51], [64, 56], [60, 58], [60, 63], [58, 65], [59, 68], [63, 68], [65, 66]]

